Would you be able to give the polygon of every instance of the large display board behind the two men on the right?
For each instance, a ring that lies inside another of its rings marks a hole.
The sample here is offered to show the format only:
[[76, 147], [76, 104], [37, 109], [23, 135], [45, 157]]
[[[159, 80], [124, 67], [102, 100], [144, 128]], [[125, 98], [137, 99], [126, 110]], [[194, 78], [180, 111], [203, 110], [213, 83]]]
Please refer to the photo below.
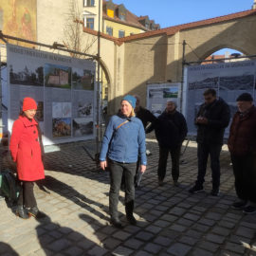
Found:
[[[222, 64], [201, 64], [186, 67], [184, 72], [183, 106], [190, 135], [196, 134], [194, 119], [200, 104], [204, 102], [203, 93], [213, 88], [217, 96], [229, 104], [231, 117], [237, 111], [236, 99], [250, 93], [255, 102], [256, 61], [230, 62]], [[225, 137], [229, 136], [229, 127]]]

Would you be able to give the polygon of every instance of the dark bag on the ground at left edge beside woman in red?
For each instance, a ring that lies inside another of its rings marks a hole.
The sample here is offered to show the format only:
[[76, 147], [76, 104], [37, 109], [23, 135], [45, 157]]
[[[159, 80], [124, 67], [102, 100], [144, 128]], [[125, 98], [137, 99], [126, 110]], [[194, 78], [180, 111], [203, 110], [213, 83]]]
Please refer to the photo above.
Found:
[[16, 203], [20, 188], [17, 178], [12, 172], [9, 170], [0, 172], [0, 193], [5, 196], [9, 206]]

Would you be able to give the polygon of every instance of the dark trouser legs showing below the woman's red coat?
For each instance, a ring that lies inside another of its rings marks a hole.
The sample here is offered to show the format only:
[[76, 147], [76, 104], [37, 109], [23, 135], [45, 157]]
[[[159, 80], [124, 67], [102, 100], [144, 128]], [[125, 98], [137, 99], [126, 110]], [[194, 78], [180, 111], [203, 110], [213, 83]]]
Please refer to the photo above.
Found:
[[31, 208], [36, 206], [36, 199], [34, 195], [34, 182], [33, 181], [20, 181], [21, 191], [18, 197], [17, 204]]

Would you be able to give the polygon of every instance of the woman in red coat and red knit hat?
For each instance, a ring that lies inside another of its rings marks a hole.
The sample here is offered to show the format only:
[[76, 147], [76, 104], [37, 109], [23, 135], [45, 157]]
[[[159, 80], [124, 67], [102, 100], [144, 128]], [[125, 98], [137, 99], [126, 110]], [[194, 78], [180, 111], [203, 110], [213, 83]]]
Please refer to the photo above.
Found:
[[36, 101], [25, 98], [20, 116], [13, 123], [9, 143], [10, 154], [17, 164], [18, 178], [22, 186], [16, 213], [24, 219], [38, 215], [33, 186], [35, 180], [45, 178], [38, 123], [34, 119], [36, 110]]

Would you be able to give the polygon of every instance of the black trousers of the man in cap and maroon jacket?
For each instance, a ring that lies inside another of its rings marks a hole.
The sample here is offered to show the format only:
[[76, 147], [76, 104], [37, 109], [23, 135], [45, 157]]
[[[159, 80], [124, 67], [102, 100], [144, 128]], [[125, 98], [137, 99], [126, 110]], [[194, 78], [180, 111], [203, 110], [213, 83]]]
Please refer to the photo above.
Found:
[[231, 155], [237, 196], [256, 203], [256, 153]]

